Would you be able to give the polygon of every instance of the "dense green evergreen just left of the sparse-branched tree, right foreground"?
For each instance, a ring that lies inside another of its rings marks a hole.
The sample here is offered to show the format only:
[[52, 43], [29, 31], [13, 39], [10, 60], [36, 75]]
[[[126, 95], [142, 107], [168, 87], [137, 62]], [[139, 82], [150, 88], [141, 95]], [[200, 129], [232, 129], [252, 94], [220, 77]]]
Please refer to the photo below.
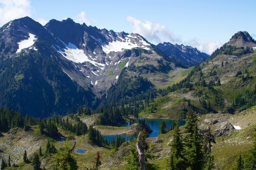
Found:
[[187, 158], [189, 168], [191, 170], [198, 170], [204, 167], [204, 153], [202, 151], [202, 141], [198, 133], [197, 122], [194, 125], [194, 133], [191, 140], [191, 148], [187, 150]]

